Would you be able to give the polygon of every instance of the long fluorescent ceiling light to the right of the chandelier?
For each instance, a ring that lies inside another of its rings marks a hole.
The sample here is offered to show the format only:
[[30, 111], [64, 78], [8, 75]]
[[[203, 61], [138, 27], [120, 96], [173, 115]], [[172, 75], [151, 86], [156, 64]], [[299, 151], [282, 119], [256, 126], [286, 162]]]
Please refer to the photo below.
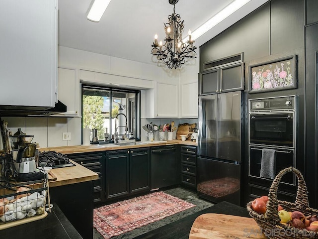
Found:
[[[227, 5], [225, 8], [223, 8], [217, 14], [215, 14], [212, 18], [210, 18], [204, 24], [202, 24], [199, 28], [194, 30], [191, 34], [192, 38], [197, 39], [198, 37], [202, 36], [204, 33], [206, 33], [212, 27], [219, 24], [221, 21], [223, 21], [225, 18], [230, 16], [232, 13], [237, 11], [239, 8], [241, 8], [243, 5], [245, 5], [249, 1], [250, 0], [234, 0], [233, 2], [231, 2], [231, 4]], [[187, 41], [186, 38], [183, 40], [184, 42]]]

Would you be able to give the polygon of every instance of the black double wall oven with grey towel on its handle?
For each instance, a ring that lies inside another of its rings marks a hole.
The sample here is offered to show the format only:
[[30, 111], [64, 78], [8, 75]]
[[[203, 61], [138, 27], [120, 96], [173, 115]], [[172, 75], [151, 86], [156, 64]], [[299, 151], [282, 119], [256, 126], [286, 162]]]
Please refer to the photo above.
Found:
[[[271, 183], [273, 176], [265, 171], [277, 175], [296, 165], [296, 96], [250, 99], [248, 103], [248, 175]], [[286, 174], [281, 183], [294, 186], [296, 177]]]

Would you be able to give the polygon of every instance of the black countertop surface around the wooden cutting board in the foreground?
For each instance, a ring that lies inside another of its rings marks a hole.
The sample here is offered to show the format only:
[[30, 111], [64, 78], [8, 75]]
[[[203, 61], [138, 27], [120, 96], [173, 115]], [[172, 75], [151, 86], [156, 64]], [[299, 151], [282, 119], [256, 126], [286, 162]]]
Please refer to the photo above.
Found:
[[135, 239], [189, 239], [190, 230], [195, 219], [205, 213], [220, 213], [240, 217], [250, 217], [246, 208], [228, 202], [221, 202], [200, 212], [145, 233]]

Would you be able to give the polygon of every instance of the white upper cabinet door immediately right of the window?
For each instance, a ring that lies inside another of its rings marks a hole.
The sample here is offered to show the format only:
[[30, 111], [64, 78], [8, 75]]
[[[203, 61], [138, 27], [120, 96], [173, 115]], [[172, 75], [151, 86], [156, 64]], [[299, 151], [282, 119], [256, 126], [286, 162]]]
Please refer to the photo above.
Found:
[[175, 118], [179, 116], [178, 85], [157, 83], [157, 117]]

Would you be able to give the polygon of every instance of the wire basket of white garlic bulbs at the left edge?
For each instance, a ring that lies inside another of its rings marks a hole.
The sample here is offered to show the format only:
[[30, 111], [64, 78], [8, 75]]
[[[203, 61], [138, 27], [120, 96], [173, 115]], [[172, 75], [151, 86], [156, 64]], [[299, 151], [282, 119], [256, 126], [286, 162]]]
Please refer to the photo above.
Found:
[[48, 177], [32, 183], [0, 185], [0, 230], [47, 216]]

